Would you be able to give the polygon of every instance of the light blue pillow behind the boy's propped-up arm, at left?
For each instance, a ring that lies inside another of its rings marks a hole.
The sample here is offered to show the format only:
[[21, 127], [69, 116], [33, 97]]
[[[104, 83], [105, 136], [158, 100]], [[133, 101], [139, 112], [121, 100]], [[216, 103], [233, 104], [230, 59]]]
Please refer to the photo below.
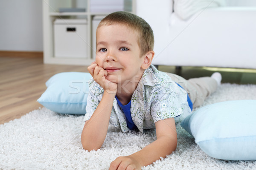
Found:
[[45, 84], [47, 90], [38, 102], [51, 111], [62, 114], [85, 114], [89, 73], [64, 72], [55, 74]]

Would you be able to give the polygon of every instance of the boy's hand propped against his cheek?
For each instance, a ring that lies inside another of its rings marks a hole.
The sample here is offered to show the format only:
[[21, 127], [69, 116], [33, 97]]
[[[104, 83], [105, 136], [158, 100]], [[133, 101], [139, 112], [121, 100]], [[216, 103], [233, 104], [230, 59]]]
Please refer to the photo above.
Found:
[[93, 62], [87, 69], [104, 91], [107, 91], [109, 94], [116, 94], [117, 84], [106, 79], [108, 71], [99, 67], [96, 62]]

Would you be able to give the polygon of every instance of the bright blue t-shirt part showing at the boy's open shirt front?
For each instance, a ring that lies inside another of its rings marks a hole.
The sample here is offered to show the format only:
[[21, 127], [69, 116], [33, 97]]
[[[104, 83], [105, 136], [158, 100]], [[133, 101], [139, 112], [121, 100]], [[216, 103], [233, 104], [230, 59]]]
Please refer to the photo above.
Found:
[[117, 99], [117, 97], [116, 97], [116, 101], [118, 105], [121, 107], [122, 111], [125, 113], [127, 127], [130, 130], [137, 129], [137, 126], [134, 124], [133, 120], [131, 119], [131, 101], [127, 105], [122, 105], [122, 103], [119, 101], [119, 99]]

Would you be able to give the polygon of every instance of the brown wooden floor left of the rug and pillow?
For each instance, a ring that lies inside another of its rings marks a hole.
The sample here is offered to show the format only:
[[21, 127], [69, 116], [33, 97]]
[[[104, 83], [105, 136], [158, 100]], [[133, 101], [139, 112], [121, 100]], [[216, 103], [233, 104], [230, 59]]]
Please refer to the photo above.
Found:
[[21, 54], [0, 52], [0, 124], [43, 107], [37, 99], [46, 90], [45, 82], [54, 74], [87, 72], [86, 66], [44, 65], [42, 53]]

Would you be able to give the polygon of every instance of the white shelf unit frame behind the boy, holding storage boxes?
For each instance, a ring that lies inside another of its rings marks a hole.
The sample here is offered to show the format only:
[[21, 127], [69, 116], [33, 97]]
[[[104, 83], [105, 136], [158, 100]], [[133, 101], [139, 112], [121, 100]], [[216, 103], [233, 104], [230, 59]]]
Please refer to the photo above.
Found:
[[[106, 16], [109, 13], [90, 12], [90, 0], [42, 0], [43, 3], [43, 40], [44, 63], [60, 65], [90, 65], [95, 52], [92, 47], [92, 20], [95, 16]], [[85, 12], [58, 12], [59, 8], [85, 8]], [[131, 0], [131, 13], [135, 13], [135, 0]], [[87, 19], [87, 56], [76, 58], [73, 56], [60, 58], [54, 56], [54, 21], [58, 18], [86, 18]]]

